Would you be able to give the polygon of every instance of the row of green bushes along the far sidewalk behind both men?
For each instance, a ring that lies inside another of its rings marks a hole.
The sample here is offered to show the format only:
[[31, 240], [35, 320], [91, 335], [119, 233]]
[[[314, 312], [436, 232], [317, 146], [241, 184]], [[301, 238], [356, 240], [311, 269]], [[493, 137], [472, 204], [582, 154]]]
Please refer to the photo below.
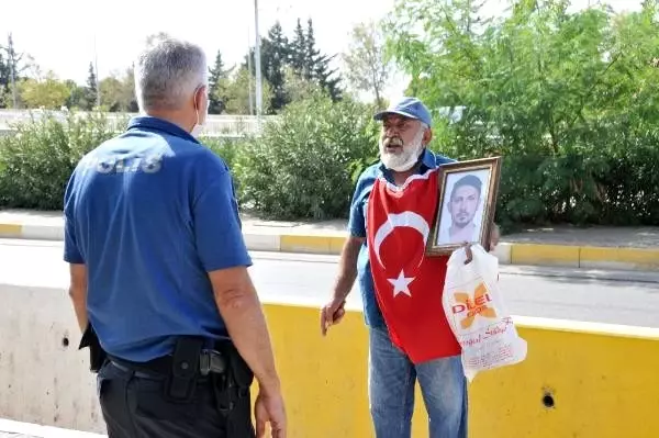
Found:
[[[279, 220], [346, 217], [357, 176], [377, 158], [372, 112], [316, 93], [287, 106], [261, 136], [202, 143], [228, 165], [242, 209]], [[658, 225], [659, 128], [625, 128], [624, 122], [603, 121], [597, 135], [574, 135], [557, 154], [543, 153], [539, 143], [513, 148], [473, 127], [437, 123], [433, 148], [461, 160], [504, 157], [496, 206], [504, 229]], [[15, 135], [0, 137], [0, 207], [60, 210], [78, 160], [122, 124], [97, 113], [18, 125]]]

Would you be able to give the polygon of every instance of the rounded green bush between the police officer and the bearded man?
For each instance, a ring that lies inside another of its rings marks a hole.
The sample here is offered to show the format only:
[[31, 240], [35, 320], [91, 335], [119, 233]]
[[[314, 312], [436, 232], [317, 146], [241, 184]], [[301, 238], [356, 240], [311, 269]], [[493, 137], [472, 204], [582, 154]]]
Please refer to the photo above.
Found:
[[241, 204], [270, 218], [345, 217], [354, 176], [377, 154], [373, 109], [322, 93], [289, 104], [242, 145]]

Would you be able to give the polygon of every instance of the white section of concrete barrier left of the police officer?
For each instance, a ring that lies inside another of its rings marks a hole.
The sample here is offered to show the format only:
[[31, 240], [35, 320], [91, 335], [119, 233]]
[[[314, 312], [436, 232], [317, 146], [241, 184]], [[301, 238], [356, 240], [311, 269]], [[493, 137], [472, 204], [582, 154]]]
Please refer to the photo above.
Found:
[[0, 284], [0, 418], [105, 433], [67, 292]]

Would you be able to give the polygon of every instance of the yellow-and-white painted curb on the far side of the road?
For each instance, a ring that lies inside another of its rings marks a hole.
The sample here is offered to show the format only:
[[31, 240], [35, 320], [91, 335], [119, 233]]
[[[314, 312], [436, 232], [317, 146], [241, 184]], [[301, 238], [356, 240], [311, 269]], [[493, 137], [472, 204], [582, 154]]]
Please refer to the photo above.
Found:
[[[278, 234], [244, 231], [249, 250], [338, 255], [345, 235]], [[62, 240], [60, 225], [0, 223], [0, 238]], [[494, 254], [502, 265], [550, 266], [585, 269], [659, 270], [659, 248], [619, 248], [597, 246], [499, 244]]]

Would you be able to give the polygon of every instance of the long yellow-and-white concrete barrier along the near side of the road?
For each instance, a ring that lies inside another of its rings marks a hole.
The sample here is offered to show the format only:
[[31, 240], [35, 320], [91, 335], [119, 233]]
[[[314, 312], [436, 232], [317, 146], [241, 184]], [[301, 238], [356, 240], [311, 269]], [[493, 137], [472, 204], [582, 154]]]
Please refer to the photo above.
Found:
[[[0, 417], [102, 433], [66, 292], [0, 285]], [[349, 310], [322, 338], [316, 304], [266, 303], [289, 437], [372, 437], [362, 315]], [[515, 321], [528, 357], [471, 383], [471, 438], [659, 436], [659, 329]], [[413, 436], [427, 437], [416, 395]]]

